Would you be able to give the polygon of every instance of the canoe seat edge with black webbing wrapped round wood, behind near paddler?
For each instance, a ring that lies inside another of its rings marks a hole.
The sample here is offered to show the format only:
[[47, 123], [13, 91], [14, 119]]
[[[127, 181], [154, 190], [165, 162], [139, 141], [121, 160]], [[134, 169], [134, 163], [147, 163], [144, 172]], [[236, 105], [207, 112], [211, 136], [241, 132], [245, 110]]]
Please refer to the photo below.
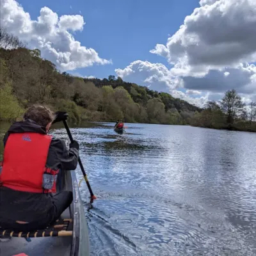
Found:
[[51, 237], [51, 236], [72, 236], [72, 230], [68, 230], [68, 226], [72, 224], [71, 219], [56, 220], [55, 223], [44, 230], [35, 231], [12, 231], [0, 230], [1, 237]]

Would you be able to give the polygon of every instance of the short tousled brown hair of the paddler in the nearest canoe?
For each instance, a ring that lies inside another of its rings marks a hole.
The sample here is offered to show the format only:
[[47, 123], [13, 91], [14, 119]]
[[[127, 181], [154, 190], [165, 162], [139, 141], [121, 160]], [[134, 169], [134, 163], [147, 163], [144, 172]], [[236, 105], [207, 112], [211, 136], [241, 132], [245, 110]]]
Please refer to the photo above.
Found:
[[23, 117], [25, 120], [30, 119], [36, 122], [36, 124], [46, 127], [47, 124], [54, 120], [55, 115], [51, 109], [35, 104], [28, 108]]

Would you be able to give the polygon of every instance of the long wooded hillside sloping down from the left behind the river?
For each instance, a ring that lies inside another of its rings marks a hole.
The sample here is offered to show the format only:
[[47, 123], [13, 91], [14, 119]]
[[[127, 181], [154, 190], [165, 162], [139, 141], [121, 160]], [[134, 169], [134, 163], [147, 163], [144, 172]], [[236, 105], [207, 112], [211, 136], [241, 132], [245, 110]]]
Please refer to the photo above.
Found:
[[76, 121], [122, 118], [125, 122], [188, 124], [200, 111], [168, 93], [126, 83], [120, 77], [83, 79], [60, 73], [51, 61], [41, 58], [38, 49], [27, 49], [19, 38], [1, 31], [1, 120], [16, 119], [34, 103], [65, 109]]

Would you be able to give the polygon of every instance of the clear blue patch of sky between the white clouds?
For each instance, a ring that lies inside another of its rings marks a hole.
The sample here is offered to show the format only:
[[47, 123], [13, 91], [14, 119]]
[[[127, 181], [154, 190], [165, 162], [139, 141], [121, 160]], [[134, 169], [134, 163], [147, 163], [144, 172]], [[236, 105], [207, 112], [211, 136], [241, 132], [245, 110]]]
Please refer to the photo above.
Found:
[[199, 6], [197, 0], [37, 0], [33, 4], [31, 0], [20, 0], [19, 3], [33, 20], [44, 6], [59, 16], [83, 15], [86, 24], [83, 31], [74, 33], [76, 40], [95, 49], [100, 57], [111, 59], [113, 65], [77, 68], [70, 73], [102, 78], [116, 75], [115, 68], [125, 68], [134, 60], [168, 66], [164, 58], [151, 54], [150, 49], [157, 43], [165, 44], [168, 35], [183, 24], [184, 17]]

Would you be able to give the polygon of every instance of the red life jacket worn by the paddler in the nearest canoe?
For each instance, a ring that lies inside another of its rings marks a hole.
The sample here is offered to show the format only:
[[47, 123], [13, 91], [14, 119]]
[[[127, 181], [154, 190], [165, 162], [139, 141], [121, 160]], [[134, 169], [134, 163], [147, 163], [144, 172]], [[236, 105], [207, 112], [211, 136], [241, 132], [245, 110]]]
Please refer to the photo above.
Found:
[[12, 133], [4, 147], [0, 186], [31, 193], [56, 192], [59, 170], [46, 168], [52, 137], [35, 132]]

